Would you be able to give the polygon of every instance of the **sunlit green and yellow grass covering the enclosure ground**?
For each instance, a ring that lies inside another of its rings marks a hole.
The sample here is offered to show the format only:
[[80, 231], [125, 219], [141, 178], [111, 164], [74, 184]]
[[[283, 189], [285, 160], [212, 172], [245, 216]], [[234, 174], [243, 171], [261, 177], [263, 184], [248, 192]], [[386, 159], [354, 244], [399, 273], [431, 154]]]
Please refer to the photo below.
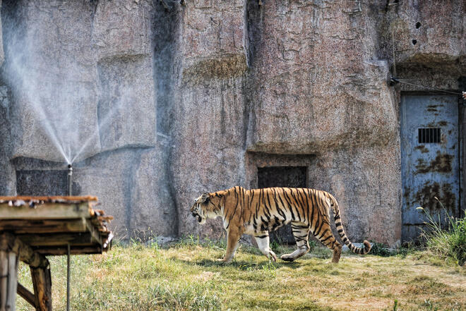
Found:
[[[274, 245], [277, 254], [289, 251]], [[114, 245], [72, 258], [71, 310], [466, 310], [466, 271], [429, 251], [342, 255], [314, 246], [296, 262], [269, 262], [241, 245], [231, 264], [225, 241], [189, 237]], [[50, 257], [54, 310], [66, 306], [66, 257]], [[32, 289], [28, 267], [20, 283]], [[17, 298], [17, 310], [33, 310]]]

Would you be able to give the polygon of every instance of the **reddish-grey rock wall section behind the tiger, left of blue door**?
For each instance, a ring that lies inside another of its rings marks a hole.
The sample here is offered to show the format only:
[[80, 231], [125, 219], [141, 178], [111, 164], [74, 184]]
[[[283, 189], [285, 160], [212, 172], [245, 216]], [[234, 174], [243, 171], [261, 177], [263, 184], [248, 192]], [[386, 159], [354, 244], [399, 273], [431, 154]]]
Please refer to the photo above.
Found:
[[[232, 42], [242, 39], [243, 46], [227, 53], [244, 57], [249, 69], [235, 77], [241, 67], [215, 56], [227, 41], [223, 39], [213, 41], [216, 47], [204, 48], [208, 53], [203, 62], [233, 67], [232, 74], [225, 77], [214, 66], [206, 75], [203, 66], [194, 66], [183, 71], [188, 78], [181, 77], [181, 98], [175, 104], [179, 119], [172, 128], [180, 139], [172, 170], [178, 176], [174, 182], [182, 203], [180, 217], [187, 218], [181, 232], [196, 231], [196, 221], [181, 212], [198, 193], [257, 186], [256, 171], [244, 163], [247, 154], [254, 154], [251, 167], [271, 154], [308, 154], [317, 162], [288, 160], [280, 165], [303, 163], [311, 171], [309, 186], [337, 195], [350, 238], [377, 236], [395, 243], [400, 238], [398, 111], [387, 84], [388, 62], [376, 58], [372, 42], [377, 11], [362, 13], [354, 4], [340, 8], [339, 3], [309, 1], [270, 1], [262, 7], [248, 1], [244, 9], [236, 10], [234, 4], [229, 8], [237, 14], [237, 21], [230, 23], [246, 33], [242, 38], [240, 32], [230, 36]], [[191, 20], [205, 20], [205, 10], [202, 6], [183, 13], [189, 20], [183, 24], [188, 39], [180, 41], [189, 51], [202, 50], [198, 41], [190, 40]], [[215, 12], [226, 10], [209, 13], [212, 31], [222, 34], [225, 26], [215, 23]], [[204, 32], [202, 28], [195, 37], [208, 37]], [[181, 136], [192, 130], [195, 137]], [[381, 189], [384, 179], [388, 187]], [[381, 221], [388, 228], [371, 225]], [[218, 232], [214, 224], [202, 233]]]

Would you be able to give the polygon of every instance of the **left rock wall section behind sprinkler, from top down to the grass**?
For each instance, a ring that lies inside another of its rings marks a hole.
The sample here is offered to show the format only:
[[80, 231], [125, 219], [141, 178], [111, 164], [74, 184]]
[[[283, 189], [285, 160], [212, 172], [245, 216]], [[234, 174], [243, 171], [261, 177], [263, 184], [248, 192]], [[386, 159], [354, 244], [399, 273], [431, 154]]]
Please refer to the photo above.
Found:
[[73, 161], [74, 194], [99, 196], [121, 236], [177, 234], [160, 187], [167, 144], [156, 138], [155, 11], [151, 1], [4, 2], [3, 194], [16, 194], [16, 171], [63, 171]]

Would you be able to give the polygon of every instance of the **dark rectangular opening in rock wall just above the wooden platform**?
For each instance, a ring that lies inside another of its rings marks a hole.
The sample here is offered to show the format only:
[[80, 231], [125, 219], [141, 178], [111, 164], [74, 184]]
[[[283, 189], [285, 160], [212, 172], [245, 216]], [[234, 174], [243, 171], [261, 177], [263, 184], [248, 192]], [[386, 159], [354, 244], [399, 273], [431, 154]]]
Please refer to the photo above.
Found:
[[68, 172], [16, 171], [18, 195], [68, 195]]

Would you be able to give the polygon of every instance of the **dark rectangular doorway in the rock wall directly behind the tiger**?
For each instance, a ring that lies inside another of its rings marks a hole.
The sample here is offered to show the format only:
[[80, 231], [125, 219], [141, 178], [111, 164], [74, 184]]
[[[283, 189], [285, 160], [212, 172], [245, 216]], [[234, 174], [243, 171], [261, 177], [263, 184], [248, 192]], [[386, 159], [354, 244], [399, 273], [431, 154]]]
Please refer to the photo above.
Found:
[[[258, 188], [289, 187], [306, 188], [306, 166], [268, 166], [257, 169]], [[295, 244], [291, 225], [270, 232], [270, 242]]]

